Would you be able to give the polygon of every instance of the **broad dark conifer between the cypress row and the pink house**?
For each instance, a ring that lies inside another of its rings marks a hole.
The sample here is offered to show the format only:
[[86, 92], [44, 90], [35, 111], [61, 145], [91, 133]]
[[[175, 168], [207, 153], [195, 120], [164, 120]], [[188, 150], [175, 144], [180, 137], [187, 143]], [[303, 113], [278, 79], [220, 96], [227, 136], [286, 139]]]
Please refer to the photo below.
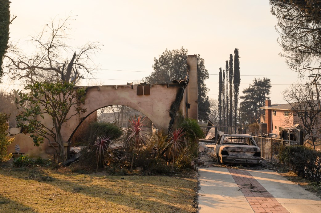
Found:
[[265, 106], [265, 100], [269, 99], [271, 93], [271, 80], [269, 78], [256, 79], [248, 88], [243, 90], [243, 96], [240, 96], [240, 123], [251, 124], [259, 119], [264, 111], [260, 109]]

